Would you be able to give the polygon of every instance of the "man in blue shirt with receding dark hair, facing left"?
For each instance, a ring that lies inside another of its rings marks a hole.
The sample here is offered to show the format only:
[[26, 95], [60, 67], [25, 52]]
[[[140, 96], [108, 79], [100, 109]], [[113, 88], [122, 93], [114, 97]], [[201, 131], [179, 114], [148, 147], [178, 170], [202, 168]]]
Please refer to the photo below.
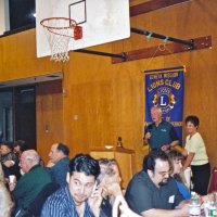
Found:
[[63, 143], [53, 144], [49, 153], [50, 161], [47, 167], [51, 174], [52, 180], [61, 187], [66, 186], [66, 174], [69, 169], [68, 154], [69, 149]]

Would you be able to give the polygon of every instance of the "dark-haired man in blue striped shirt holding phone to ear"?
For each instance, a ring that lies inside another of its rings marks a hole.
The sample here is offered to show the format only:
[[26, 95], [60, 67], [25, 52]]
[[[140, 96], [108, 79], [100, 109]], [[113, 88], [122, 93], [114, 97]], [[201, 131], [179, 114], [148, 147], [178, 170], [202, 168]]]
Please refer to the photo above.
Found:
[[99, 174], [98, 161], [89, 155], [76, 155], [69, 163], [67, 186], [48, 197], [41, 217], [104, 216], [100, 208], [101, 189], [94, 188]]

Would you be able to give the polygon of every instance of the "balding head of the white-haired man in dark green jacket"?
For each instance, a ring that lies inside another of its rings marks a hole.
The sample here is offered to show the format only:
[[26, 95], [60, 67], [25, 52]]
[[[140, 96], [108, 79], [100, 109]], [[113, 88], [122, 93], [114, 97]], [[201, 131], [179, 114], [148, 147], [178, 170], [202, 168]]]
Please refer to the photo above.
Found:
[[27, 150], [22, 153], [20, 167], [23, 173], [28, 173], [34, 166], [38, 165], [40, 157], [35, 150]]

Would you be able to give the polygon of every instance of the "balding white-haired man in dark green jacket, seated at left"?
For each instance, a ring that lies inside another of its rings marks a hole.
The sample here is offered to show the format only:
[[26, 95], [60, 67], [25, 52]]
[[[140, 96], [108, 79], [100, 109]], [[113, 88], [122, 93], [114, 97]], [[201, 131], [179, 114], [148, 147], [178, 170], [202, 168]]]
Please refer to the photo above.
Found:
[[48, 170], [39, 165], [40, 157], [35, 150], [22, 153], [20, 167], [24, 173], [17, 183], [10, 182], [15, 200], [15, 214], [22, 216], [35, 201], [44, 186], [51, 182]]

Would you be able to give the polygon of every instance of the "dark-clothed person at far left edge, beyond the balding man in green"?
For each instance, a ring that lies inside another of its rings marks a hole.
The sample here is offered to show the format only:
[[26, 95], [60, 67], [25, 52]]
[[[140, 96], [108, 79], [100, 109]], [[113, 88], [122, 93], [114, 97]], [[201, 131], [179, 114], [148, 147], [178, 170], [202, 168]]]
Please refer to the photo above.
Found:
[[20, 168], [18, 158], [13, 153], [13, 142], [2, 142], [1, 143], [1, 164], [4, 173], [4, 177], [8, 179], [10, 175], [15, 175], [18, 179]]

